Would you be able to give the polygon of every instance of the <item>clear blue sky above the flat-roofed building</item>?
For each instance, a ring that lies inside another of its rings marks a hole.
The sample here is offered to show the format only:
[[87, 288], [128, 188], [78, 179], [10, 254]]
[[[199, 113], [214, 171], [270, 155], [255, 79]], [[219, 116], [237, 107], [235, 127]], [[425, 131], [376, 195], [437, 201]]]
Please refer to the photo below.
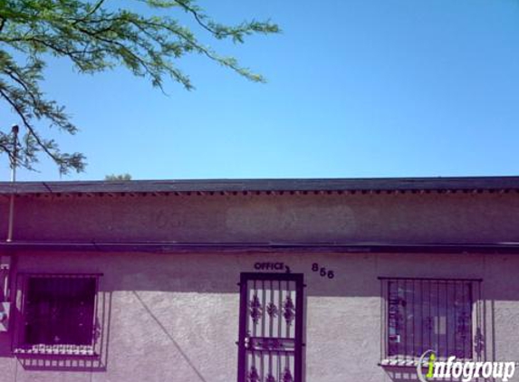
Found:
[[[62, 180], [519, 174], [518, 1], [199, 4], [226, 23], [280, 24], [216, 45], [268, 83], [188, 57], [197, 89], [169, 81], [165, 96], [124, 70], [85, 76], [53, 60], [44, 90], [82, 129], [56, 138], [89, 164]], [[48, 160], [38, 169], [20, 180], [60, 179]]]

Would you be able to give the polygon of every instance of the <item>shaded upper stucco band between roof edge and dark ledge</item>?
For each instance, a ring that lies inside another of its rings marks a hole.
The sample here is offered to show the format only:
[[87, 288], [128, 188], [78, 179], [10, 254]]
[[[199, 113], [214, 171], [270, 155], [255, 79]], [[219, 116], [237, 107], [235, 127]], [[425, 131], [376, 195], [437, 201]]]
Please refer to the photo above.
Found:
[[[0, 234], [7, 232], [0, 198]], [[519, 194], [19, 196], [16, 240], [499, 242]]]

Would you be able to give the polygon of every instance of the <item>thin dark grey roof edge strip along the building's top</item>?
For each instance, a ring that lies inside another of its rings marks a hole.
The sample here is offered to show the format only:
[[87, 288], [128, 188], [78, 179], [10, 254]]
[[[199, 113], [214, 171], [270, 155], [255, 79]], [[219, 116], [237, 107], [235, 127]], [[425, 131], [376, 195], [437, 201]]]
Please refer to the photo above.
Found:
[[389, 177], [0, 182], [2, 194], [519, 190], [519, 177]]

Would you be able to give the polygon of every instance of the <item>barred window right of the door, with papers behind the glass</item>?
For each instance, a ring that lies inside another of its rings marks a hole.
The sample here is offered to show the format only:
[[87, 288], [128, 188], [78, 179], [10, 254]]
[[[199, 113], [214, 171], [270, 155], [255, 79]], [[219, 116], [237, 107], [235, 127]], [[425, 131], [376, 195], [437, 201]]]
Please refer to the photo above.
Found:
[[474, 358], [481, 316], [475, 280], [381, 279], [382, 358], [417, 360], [432, 349], [438, 358]]

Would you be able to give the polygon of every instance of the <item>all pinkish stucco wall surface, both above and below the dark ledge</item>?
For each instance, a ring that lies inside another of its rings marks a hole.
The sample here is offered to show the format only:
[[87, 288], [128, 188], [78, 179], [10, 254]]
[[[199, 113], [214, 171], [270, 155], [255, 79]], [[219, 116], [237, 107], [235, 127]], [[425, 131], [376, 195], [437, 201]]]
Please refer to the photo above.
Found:
[[[5, 215], [5, 203], [0, 209]], [[14, 238], [474, 243], [517, 241], [518, 223], [517, 194], [24, 196]], [[107, 343], [101, 364], [91, 370], [27, 365], [11, 352], [12, 333], [0, 333], [1, 382], [233, 381], [236, 282], [240, 272], [254, 272], [256, 262], [283, 262], [304, 274], [305, 382], [414, 377], [412, 369], [378, 366], [379, 276], [482, 278], [486, 357], [519, 361], [519, 255], [21, 251], [14, 256], [16, 272], [102, 272]], [[335, 277], [320, 277], [312, 263]]]

